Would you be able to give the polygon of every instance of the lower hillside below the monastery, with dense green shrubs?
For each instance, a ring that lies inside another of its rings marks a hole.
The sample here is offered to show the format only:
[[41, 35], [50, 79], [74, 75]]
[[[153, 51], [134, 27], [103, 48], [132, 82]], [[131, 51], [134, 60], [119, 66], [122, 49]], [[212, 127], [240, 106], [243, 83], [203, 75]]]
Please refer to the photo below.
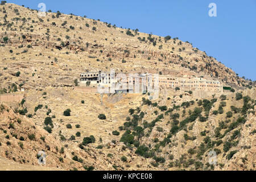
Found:
[[152, 101], [105, 95], [101, 105], [98, 94], [69, 88], [28, 92], [14, 110], [1, 106], [1, 156], [38, 166], [44, 150], [47, 167], [62, 170], [255, 170], [255, 93], [165, 90]]

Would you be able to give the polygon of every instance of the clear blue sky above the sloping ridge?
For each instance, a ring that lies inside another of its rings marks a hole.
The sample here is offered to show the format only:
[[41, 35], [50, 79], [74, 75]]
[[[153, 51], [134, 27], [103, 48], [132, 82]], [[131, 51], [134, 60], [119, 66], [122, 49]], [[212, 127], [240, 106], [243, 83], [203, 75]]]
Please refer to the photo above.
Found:
[[[13, 0], [7, 1], [47, 11], [100, 19], [123, 28], [188, 41], [232, 68], [239, 76], [256, 80], [256, 0]], [[208, 15], [216, 3], [217, 17]]]

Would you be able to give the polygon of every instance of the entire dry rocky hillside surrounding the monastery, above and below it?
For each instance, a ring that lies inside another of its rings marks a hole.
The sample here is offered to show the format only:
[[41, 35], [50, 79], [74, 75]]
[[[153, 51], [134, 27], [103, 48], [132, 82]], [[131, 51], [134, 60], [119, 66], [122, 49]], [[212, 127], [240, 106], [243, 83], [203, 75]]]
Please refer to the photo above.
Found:
[[[25, 90], [21, 102], [0, 102], [0, 169], [255, 170], [254, 82], [178, 38], [2, 4], [0, 94]], [[73, 89], [85, 69], [110, 68], [214, 78], [235, 90], [101, 100]]]

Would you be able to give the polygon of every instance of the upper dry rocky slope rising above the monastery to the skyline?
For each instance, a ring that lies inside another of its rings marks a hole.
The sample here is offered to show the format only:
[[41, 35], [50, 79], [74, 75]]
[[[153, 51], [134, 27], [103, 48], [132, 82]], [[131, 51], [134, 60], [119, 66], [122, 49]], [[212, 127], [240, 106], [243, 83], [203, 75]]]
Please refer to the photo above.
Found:
[[0, 80], [6, 89], [13, 83], [26, 89], [71, 86], [80, 72], [92, 68], [213, 77], [234, 86], [253, 84], [179, 38], [60, 12], [41, 17], [37, 10], [11, 3], [0, 6], [0, 17]]

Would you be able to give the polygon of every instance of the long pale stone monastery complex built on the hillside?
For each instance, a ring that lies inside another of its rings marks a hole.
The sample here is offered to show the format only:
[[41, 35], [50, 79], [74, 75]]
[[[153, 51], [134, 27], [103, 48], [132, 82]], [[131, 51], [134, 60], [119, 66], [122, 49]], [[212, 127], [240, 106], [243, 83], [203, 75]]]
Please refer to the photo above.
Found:
[[[141, 85], [141, 90], [146, 90], [150, 83], [154, 86], [158, 83], [159, 88], [179, 88], [181, 90], [200, 90], [207, 92], [223, 92], [222, 82], [218, 80], [206, 80], [199, 77], [174, 77], [169, 75], [152, 75], [149, 73], [144, 74], [127, 74], [127, 73], [114, 73], [114, 72], [102, 72], [92, 71], [80, 74], [80, 82], [82, 84], [89, 83], [90, 86], [104, 85], [112, 86], [127, 85], [127, 88], [121, 88], [120, 90], [133, 90], [135, 85]], [[157, 83], [156, 83], [157, 82]]]

